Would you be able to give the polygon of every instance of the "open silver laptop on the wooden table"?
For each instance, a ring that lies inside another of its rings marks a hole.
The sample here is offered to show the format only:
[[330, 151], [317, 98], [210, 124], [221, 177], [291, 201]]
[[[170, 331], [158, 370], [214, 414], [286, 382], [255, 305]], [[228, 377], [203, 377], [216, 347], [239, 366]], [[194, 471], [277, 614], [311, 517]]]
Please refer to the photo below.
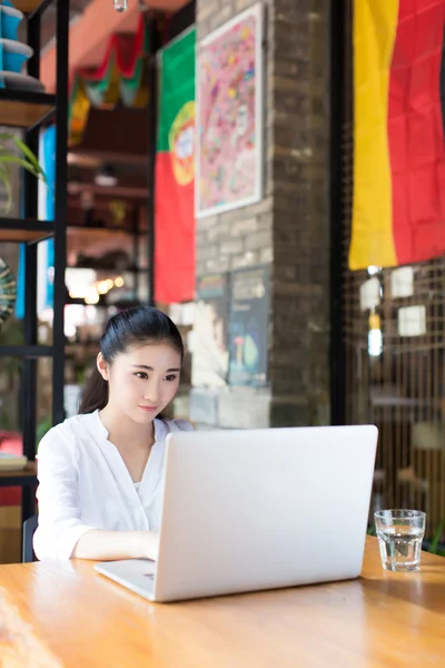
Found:
[[157, 563], [95, 569], [154, 601], [358, 577], [375, 426], [175, 432]]

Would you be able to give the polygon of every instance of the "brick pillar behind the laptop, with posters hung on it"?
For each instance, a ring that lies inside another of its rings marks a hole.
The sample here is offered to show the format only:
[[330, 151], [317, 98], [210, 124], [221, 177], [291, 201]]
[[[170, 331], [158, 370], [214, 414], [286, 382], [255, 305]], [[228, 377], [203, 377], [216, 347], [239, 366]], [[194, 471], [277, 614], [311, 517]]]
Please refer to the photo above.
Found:
[[[197, 0], [198, 41], [254, 3]], [[264, 199], [198, 220], [197, 273], [270, 264], [269, 385], [194, 389], [191, 415], [198, 404], [197, 412], [205, 415], [208, 402], [209, 426], [329, 421], [329, 2], [263, 0], [263, 4]]]

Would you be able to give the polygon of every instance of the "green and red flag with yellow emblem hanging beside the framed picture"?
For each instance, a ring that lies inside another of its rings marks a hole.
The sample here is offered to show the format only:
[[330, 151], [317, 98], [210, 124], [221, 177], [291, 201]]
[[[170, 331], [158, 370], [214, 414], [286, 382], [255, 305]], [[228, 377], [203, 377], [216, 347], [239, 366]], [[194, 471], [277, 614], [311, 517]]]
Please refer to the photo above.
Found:
[[195, 29], [160, 53], [155, 301], [195, 297]]

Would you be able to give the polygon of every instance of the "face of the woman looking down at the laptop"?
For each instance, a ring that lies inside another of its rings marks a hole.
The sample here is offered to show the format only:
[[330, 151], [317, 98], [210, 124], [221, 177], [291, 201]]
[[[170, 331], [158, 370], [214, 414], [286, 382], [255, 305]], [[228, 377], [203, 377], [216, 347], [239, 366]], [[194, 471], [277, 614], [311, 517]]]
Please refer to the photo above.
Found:
[[130, 346], [111, 365], [99, 355], [98, 369], [108, 381], [108, 406], [147, 424], [174, 399], [181, 357], [169, 343], [148, 343]]

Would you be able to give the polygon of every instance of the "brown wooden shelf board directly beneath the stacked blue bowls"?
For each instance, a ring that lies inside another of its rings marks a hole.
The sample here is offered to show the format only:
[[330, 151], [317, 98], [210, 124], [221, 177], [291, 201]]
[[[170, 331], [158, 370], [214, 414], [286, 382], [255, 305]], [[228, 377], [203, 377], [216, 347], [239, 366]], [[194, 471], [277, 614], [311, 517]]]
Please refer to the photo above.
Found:
[[0, 89], [0, 125], [30, 130], [55, 112], [56, 96], [31, 90]]

